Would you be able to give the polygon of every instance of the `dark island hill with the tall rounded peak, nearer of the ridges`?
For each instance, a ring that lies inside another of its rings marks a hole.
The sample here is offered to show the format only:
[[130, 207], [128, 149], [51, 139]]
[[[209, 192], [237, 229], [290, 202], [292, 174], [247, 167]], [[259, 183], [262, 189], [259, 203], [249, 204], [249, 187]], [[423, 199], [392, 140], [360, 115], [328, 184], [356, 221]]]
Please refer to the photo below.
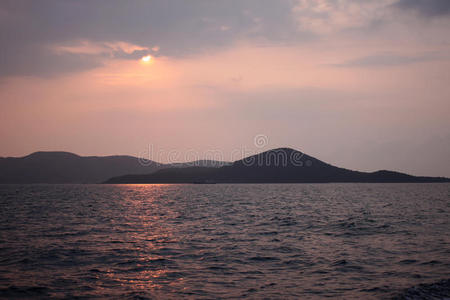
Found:
[[152, 174], [113, 177], [106, 183], [325, 183], [449, 182], [443, 177], [417, 177], [393, 171], [373, 173], [339, 168], [290, 148], [269, 150], [219, 168], [161, 169]]

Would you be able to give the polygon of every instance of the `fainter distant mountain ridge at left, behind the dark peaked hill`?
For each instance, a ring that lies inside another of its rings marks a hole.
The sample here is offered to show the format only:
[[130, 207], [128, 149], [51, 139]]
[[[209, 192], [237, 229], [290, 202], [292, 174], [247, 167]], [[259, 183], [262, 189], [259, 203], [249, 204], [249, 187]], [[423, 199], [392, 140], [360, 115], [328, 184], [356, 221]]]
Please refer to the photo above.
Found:
[[148, 174], [161, 168], [222, 166], [217, 161], [160, 164], [133, 156], [79, 156], [69, 152], [35, 152], [0, 158], [0, 183], [100, 183], [124, 174]]

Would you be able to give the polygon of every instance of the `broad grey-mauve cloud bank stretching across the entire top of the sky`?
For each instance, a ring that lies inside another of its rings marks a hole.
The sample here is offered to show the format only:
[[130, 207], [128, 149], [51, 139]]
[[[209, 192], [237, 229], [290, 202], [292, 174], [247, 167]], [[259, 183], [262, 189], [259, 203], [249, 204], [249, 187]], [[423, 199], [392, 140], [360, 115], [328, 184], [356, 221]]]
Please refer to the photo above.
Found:
[[[395, 18], [395, 14], [413, 10], [427, 16], [447, 15], [449, 3], [448, 0], [0, 1], [0, 77], [56, 76], [95, 68], [107, 59], [138, 59], [146, 52], [180, 58], [209, 54], [241, 42], [298, 45], [336, 37], [341, 32], [351, 32], [347, 36], [350, 38], [367, 37], [368, 33], [373, 36], [369, 30], [379, 24], [414, 23], [417, 19]], [[405, 27], [411, 28], [409, 25]], [[442, 32], [448, 31], [441, 27]], [[389, 29], [385, 30], [388, 34]], [[402, 34], [397, 36], [419, 35], [416, 30]], [[443, 33], [435, 35], [441, 37]]]

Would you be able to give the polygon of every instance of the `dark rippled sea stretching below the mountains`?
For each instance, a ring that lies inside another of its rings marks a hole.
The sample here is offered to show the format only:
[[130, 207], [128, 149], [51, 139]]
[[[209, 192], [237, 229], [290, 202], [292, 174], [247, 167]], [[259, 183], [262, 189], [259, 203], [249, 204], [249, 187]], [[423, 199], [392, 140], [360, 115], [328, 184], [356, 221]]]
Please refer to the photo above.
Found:
[[0, 185], [0, 297], [386, 298], [450, 277], [449, 184]]

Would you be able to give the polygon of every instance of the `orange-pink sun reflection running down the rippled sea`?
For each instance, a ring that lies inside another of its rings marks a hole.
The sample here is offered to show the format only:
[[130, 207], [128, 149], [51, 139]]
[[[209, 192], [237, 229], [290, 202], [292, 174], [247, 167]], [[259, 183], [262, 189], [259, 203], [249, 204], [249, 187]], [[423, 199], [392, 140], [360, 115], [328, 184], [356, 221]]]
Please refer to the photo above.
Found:
[[176, 237], [178, 216], [172, 201], [172, 185], [133, 184], [115, 185], [120, 194], [115, 201], [121, 219], [113, 221], [115, 232], [126, 241], [128, 260], [111, 268], [106, 276], [135, 291], [158, 290], [162, 286], [182, 285], [183, 276], [169, 272], [171, 256], [177, 255], [179, 239]]

